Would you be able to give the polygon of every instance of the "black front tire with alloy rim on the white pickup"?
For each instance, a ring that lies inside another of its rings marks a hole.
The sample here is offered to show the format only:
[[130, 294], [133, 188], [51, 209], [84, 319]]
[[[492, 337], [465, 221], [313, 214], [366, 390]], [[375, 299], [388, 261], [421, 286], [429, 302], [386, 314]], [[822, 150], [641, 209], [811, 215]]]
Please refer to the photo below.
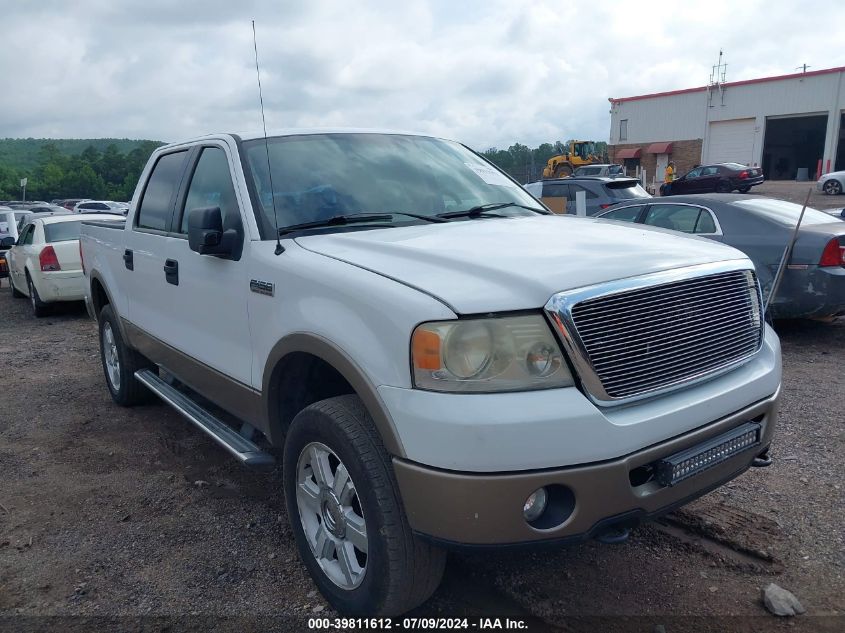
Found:
[[[337, 495], [332, 488], [346, 480], [341, 469], [349, 480]], [[394, 616], [434, 593], [446, 553], [411, 532], [390, 457], [357, 396], [321, 400], [294, 418], [283, 471], [297, 548], [334, 609], [349, 616]]]

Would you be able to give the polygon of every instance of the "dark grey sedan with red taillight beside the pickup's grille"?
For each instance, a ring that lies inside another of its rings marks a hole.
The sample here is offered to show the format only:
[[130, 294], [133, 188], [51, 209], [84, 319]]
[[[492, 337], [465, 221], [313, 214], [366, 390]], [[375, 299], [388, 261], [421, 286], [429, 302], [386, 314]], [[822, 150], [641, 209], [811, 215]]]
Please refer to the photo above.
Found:
[[[614, 207], [599, 217], [692, 233], [733, 246], [754, 262], [763, 296], [768, 297], [800, 213], [800, 204], [784, 200], [708, 194], [678, 196], [671, 202], [643, 200]], [[772, 316], [841, 314], [845, 314], [845, 223], [808, 208], [772, 304]]]

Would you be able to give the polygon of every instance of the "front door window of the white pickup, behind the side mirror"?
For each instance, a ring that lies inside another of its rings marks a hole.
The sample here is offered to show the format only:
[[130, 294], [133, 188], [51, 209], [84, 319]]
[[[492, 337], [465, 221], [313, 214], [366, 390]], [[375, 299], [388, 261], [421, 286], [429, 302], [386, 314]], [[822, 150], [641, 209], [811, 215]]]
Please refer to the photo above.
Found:
[[229, 161], [226, 152], [219, 147], [205, 147], [200, 154], [182, 211], [181, 233], [188, 232], [191, 211], [203, 207], [219, 207], [223, 226], [240, 218]]

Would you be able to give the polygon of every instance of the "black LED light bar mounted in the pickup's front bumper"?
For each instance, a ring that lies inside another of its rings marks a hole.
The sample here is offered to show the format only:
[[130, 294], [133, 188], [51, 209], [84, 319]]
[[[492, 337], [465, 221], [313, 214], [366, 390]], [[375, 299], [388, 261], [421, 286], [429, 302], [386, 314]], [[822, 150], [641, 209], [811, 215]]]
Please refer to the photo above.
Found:
[[746, 422], [742, 426], [655, 462], [657, 481], [664, 486], [689, 479], [727, 459], [760, 445], [761, 426]]

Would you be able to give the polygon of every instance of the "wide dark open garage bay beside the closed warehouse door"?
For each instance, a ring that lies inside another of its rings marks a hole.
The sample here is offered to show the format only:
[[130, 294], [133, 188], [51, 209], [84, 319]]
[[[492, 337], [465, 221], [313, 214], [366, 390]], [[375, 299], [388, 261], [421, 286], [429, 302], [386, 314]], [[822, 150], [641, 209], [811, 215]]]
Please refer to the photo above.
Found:
[[810, 180], [815, 180], [826, 131], [826, 114], [767, 117], [763, 141], [766, 180], [795, 180], [799, 167], [805, 167]]

